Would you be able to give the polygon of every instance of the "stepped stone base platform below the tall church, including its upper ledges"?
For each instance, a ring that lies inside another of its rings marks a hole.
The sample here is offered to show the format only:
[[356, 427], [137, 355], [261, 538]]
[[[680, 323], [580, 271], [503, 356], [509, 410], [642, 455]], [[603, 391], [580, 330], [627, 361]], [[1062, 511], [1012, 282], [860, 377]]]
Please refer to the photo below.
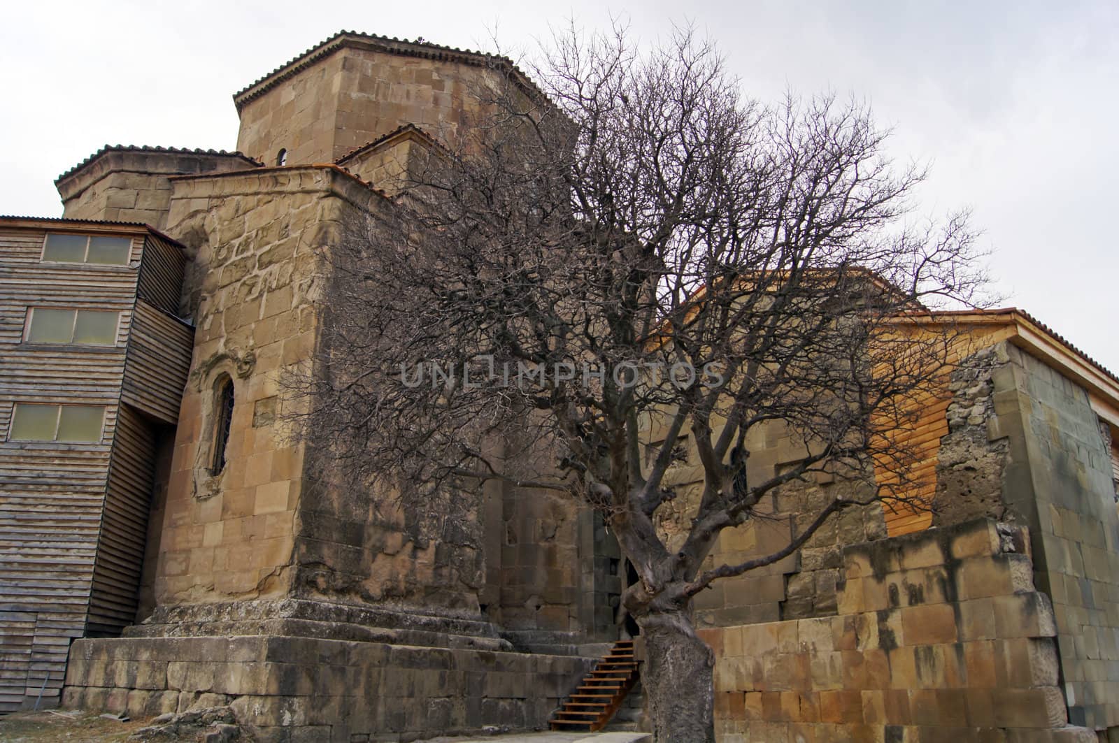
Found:
[[515, 652], [486, 621], [279, 599], [162, 608], [70, 647], [63, 706], [229, 706], [261, 741], [543, 730], [594, 657]]

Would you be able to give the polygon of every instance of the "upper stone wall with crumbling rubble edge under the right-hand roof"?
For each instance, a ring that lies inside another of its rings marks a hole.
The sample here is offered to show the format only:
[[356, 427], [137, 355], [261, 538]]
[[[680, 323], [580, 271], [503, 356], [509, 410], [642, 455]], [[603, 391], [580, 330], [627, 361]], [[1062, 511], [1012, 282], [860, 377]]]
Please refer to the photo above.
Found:
[[1088, 393], [1004, 342], [952, 375], [935, 523], [986, 515], [1029, 528], [1053, 601], [1073, 723], [1119, 726], [1119, 517], [1109, 446]]

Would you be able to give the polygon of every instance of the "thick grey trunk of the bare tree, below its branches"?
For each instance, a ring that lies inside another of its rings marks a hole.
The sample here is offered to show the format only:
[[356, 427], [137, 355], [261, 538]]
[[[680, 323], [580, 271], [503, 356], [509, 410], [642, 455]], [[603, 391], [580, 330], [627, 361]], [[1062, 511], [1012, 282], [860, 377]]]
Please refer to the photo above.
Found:
[[715, 653], [683, 611], [638, 617], [646, 642], [641, 687], [657, 743], [714, 743]]

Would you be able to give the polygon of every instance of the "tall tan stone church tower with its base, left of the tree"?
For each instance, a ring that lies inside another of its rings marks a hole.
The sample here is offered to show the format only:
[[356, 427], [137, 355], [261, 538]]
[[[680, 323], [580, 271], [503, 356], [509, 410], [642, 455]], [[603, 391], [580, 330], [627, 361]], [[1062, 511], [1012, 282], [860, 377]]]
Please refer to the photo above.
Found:
[[[98, 702], [96, 680], [77, 680], [98, 673], [86, 661], [142, 675], [141, 658], [167, 655], [166, 678], [128, 693], [137, 714], [209, 694], [276, 735], [292, 715], [340, 741], [534, 726], [585, 664], [577, 646], [615, 637], [620, 555], [592, 515], [495, 487], [429, 528], [422, 504], [316, 481], [286, 422], [308, 401], [285, 373], [312, 363], [329, 302], [322, 248], [394, 208], [412, 153], [451, 142], [479, 86], [509, 79], [534, 90], [502, 58], [342, 32], [234, 96], [241, 152], [106, 148], [59, 179], [67, 216], [148, 222], [186, 246], [195, 328], [143, 621], [83, 641], [69, 702]], [[190, 659], [175, 650], [185, 637]], [[446, 708], [397, 718], [395, 694]]]

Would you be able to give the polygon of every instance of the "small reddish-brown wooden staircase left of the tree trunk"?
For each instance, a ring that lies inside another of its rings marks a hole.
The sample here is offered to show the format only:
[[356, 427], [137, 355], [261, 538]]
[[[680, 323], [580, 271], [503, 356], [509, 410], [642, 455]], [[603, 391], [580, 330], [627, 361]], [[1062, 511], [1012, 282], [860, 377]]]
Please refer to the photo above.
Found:
[[548, 721], [552, 730], [598, 732], [618, 712], [626, 695], [637, 683], [633, 641], [614, 643], [602, 660], [583, 677], [579, 688]]

